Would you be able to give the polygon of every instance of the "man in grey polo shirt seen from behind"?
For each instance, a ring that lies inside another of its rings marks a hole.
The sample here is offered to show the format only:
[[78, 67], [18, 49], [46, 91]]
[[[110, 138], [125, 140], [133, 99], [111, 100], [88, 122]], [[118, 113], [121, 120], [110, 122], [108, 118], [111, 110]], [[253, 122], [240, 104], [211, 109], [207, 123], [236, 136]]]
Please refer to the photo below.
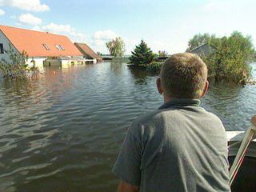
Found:
[[195, 54], [174, 54], [157, 79], [164, 104], [130, 126], [113, 172], [118, 192], [230, 191], [226, 132], [200, 107], [207, 67]]

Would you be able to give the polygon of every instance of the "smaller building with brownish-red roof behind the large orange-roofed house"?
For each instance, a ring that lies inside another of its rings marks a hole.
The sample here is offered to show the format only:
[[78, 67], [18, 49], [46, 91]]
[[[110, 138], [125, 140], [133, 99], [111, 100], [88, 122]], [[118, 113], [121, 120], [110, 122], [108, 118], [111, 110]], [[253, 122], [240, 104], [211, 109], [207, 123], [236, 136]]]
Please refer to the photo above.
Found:
[[96, 54], [94, 50], [90, 48], [90, 46], [86, 45], [86, 43], [75, 42], [74, 46], [76, 46], [78, 50], [80, 50], [85, 58], [92, 59], [94, 63], [102, 62], [102, 58], [98, 54]]

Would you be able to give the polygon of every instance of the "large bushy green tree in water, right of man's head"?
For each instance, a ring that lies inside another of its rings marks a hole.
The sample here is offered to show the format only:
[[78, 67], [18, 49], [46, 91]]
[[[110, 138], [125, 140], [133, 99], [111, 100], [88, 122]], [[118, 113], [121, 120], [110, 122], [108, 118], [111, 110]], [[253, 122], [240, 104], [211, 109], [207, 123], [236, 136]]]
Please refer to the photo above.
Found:
[[216, 82], [240, 82], [250, 77], [250, 62], [255, 50], [250, 36], [234, 31], [230, 37], [214, 39], [216, 50], [202, 58], [209, 69], [209, 76]]

